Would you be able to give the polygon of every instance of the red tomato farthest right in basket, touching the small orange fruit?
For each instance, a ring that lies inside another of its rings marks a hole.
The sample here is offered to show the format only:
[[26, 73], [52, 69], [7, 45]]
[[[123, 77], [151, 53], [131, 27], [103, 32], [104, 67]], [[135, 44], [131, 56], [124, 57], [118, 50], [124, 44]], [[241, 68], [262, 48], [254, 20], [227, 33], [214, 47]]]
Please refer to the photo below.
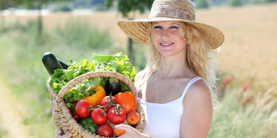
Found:
[[125, 110], [121, 110], [120, 114], [117, 114], [116, 107], [111, 108], [108, 111], [108, 119], [112, 124], [121, 124], [126, 119]]

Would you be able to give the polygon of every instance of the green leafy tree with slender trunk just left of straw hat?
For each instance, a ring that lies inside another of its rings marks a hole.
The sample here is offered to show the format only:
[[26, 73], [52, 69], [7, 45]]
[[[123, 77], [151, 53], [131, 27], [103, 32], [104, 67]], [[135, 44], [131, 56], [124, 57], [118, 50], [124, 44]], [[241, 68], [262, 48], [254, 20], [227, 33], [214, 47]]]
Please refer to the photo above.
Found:
[[[118, 12], [120, 12], [123, 17], [128, 20], [134, 19], [134, 15], [137, 10], [141, 13], [145, 12], [145, 10], [149, 10], [152, 6], [154, 0], [118, 0]], [[105, 0], [105, 6], [107, 8], [111, 8], [113, 6], [114, 0]], [[130, 12], [132, 12], [132, 16], [130, 16]], [[131, 38], [128, 38], [128, 57], [132, 64], [135, 65], [134, 59], [134, 48], [133, 41]]]

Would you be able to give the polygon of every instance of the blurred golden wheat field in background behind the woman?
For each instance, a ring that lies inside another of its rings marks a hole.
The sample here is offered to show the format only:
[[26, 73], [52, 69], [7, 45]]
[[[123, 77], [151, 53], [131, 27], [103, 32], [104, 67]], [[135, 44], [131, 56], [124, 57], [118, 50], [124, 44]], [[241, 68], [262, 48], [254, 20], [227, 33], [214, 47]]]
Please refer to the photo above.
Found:
[[[217, 55], [222, 72], [235, 77], [241, 85], [250, 82], [251, 88], [256, 92], [268, 88], [277, 91], [276, 13], [277, 3], [240, 8], [220, 6], [196, 12], [197, 21], [215, 26], [225, 35], [225, 41]], [[136, 19], [147, 18], [148, 12], [133, 16]], [[28, 19], [36, 18], [30, 15], [5, 17], [6, 23], [26, 23]], [[55, 12], [43, 16], [46, 30], [73, 20], [89, 21], [91, 26], [109, 30], [114, 46], [126, 46], [127, 36], [116, 26], [116, 21], [127, 19], [116, 12], [92, 12], [84, 15]]]

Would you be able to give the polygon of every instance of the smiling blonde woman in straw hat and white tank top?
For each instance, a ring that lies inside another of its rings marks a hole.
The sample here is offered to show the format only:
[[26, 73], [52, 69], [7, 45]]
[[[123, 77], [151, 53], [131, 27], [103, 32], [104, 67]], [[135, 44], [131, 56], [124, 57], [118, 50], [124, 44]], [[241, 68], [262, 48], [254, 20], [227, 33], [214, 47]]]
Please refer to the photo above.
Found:
[[207, 137], [216, 80], [214, 52], [224, 41], [222, 32], [196, 22], [190, 0], [156, 0], [148, 19], [118, 21], [118, 26], [148, 47], [146, 68], [135, 81], [145, 128], [141, 133], [117, 125], [126, 130], [121, 137]]

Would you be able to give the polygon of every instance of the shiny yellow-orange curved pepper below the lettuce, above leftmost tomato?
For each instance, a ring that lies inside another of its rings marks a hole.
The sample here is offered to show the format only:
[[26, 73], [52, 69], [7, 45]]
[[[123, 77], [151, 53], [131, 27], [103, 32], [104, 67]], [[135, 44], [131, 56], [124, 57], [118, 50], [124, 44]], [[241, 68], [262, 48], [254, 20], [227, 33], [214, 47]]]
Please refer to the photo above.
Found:
[[105, 89], [102, 86], [97, 86], [91, 89], [91, 91], [96, 91], [96, 93], [89, 97], [83, 97], [83, 99], [89, 101], [92, 106], [96, 106], [96, 104], [100, 105], [102, 99], [106, 96]]

